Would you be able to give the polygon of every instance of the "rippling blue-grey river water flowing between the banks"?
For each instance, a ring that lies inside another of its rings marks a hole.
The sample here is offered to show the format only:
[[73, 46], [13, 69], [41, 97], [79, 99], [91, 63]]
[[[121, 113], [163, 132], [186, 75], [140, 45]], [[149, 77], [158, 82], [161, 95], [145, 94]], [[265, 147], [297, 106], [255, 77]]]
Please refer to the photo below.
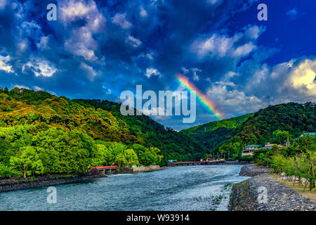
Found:
[[227, 210], [230, 186], [244, 181], [239, 165], [167, 167], [154, 172], [114, 174], [55, 186], [0, 193], [0, 210]]

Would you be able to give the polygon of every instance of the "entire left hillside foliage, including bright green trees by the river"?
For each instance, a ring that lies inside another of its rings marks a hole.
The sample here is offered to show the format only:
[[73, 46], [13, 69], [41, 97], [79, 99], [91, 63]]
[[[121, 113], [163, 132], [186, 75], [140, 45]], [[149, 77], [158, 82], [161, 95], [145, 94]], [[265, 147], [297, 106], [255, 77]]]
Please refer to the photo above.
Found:
[[0, 89], [0, 177], [83, 174], [102, 165], [164, 165], [195, 160], [204, 148], [120, 105], [70, 100], [44, 91]]

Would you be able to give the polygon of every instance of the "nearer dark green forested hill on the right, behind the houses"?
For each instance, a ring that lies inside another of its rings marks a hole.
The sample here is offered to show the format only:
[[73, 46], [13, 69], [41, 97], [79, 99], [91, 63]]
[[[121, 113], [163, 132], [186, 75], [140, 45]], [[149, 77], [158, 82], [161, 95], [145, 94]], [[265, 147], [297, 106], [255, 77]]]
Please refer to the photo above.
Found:
[[277, 130], [288, 131], [292, 138], [303, 132], [315, 132], [316, 104], [287, 103], [259, 110], [254, 117], [234, 129], [219, 150], [237, 158], [247, 144], [275, 141], [273, 132]]

